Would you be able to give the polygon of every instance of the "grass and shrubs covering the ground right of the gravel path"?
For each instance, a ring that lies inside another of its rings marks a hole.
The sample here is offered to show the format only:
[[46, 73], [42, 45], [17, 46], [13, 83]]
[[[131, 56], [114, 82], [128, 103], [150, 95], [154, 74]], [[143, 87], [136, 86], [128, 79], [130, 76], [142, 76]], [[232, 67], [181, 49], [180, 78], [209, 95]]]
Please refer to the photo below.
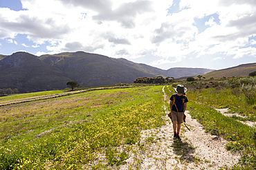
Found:
[[[256, 129], [243, 123], [256, 120], [255, 85], [256, 77], [187, 84], [188, 98], [193, 101], [189, 105], [193, 118], [205, 131], [229, 140], [226, 149], [241, 154], [240, 165], [232, 169], [256, 168]], [[234, 116], [223, 116], [214, 108], [228, 108], [228, 113]]]

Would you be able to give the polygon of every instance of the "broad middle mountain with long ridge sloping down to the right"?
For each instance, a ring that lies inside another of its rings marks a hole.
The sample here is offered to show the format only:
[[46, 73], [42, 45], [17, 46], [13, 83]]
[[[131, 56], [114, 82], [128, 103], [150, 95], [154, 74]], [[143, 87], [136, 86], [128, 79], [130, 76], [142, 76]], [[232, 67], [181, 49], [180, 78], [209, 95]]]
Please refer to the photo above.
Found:
[[116, 59], [86, 52], [40, 56], [45, 63], [57, 67], [68, 77], [85, 87], [132, 83], [139, 76], [156, 76], [136, 70]]

